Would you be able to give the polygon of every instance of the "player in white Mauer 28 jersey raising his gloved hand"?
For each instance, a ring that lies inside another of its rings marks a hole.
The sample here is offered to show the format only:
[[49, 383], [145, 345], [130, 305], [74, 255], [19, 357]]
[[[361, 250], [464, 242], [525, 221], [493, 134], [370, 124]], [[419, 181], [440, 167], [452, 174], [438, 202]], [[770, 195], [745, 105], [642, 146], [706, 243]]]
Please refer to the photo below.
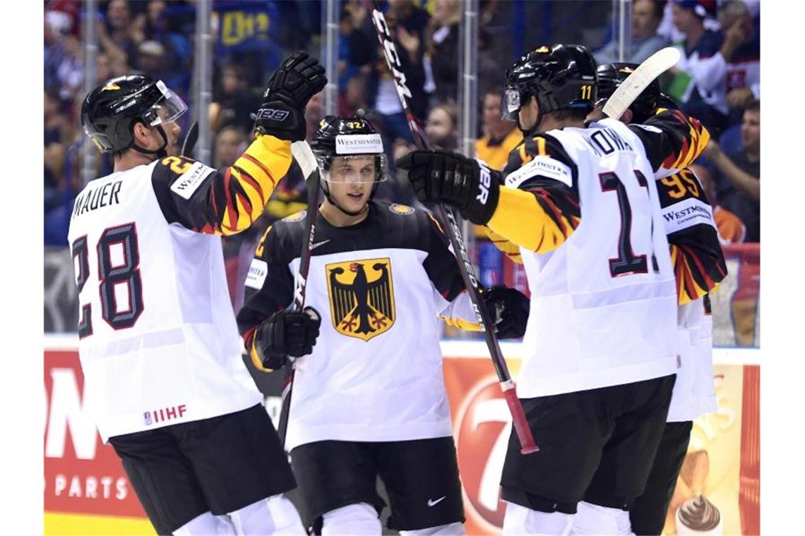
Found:
[[307, 54], [286, 59], [256, 139], [223, 170], [177, 156], [187, 106], [161, 80], [121, 76], [85, 98], [85, 133], [114, 154], [114, 173], [78, 194], [68, 232], [85, 403], [159, 534], [304, 534], [242, 362], [221, 235], [262, 213], [326, 82]]

